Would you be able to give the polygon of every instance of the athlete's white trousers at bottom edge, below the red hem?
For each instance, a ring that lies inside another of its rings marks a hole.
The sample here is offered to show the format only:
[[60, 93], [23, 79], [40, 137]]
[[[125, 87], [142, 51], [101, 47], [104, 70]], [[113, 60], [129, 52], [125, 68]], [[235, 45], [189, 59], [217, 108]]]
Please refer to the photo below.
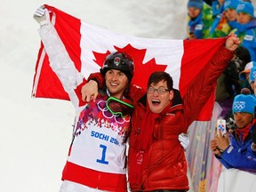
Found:
[[59, 192], [106, 192], [97, 188], [89, 188], [87, 186], [75, 183], [69, 180], [64, 180], [61, 184]]

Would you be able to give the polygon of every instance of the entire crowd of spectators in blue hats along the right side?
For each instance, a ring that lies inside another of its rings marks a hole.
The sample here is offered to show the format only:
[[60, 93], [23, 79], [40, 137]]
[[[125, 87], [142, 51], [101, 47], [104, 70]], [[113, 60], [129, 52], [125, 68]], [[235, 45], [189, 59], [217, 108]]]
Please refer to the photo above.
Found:
[[256, 172], [256, 18], [253, 4], [250, 0], [188, 0], [187, 39], [218, 38], [231, 33], [242, 43], [218, 79], [215, 98], [223, 109], [220, 118], [226, 120], [228, 134], [215, 136], [211, 149], [226, 168]]

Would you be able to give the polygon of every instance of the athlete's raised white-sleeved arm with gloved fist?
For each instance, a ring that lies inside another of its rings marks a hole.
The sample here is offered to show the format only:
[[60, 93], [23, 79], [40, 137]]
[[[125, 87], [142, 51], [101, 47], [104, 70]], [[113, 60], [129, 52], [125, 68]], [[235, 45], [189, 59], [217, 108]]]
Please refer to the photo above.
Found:
[[77, 108], [81, 103], [79, 102], [80, 97], [77, 97], [76, 89], [79, 84], [83, 83], [84, 76], [77, 71], [74, 62], [68, 56], [68, 52], [52, 25], [49, 12], [44, 5], [36, 10], [34, 19], [40, 24], [38, 33], [43, 41], [44, 50], [49, 56], [50, 66], [59, 77], [65, 91], [68, 92], [74, 107]]

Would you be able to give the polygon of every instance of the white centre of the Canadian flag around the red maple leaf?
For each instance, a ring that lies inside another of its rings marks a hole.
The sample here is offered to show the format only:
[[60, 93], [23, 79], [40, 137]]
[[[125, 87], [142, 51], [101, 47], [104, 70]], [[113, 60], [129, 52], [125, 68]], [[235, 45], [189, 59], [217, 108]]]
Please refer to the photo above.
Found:
[[[81, 50], [81, 73], [84, 74], [85, 78], [91, 73], [100, 70], [100, 66], [92, 62], [92, 60], [95, 60], [93, 52], [116, 52], [116, 46], [123, 48], [129, 42], [135, 49], [147, 50], [142, 60], [143, 64], [147, 64], [149, 60], [154, 59], [156, 63], [167, 65], [165, 71], [172, 74], [172, 79], [175, 79], [173, 81], [173, 87], [179, 88], [180, 66], [184, 53], [183, 40], [124, 36], [113, 33], [105, 28], [87, 24], [83, 20], [81, 20], [80, 32], [82, 36], [81, 47], [83, 47]], [[90, 68], [88, 68], [88, 64], [90, 64]], [[152, 68], [152, 66], [149, 67]]]

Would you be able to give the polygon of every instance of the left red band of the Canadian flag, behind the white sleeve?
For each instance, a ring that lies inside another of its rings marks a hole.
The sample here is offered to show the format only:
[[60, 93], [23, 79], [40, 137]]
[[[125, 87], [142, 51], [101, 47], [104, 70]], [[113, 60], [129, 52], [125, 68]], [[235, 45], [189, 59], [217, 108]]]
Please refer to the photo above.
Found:
[[[54, 12], [58, 15], [58, 17], [54, 17], [54, 26], [68, 51], [69, 57], [75, 63], [76, 69], [81, 71], [80, 20], [47, 4], [44, 4], [44, 6], [50, 12]], [[59, 78], [52, 71], [52, 68], [49, 65], [47, 54], [45, 56], [42, 54], [44, 53], [43, 49], [44, 45], [41, 44], [41, 48], [38, 52], [38, 59], [36, 60], [36, 75], [34, 76], [34, 92], [32, 96], [36, 98], [69, 100], [68, 93], [64, 91]], [[38, 69], [40, 70], [38, 71]], [[36, 82], [36, 76], [38, 82]]]

